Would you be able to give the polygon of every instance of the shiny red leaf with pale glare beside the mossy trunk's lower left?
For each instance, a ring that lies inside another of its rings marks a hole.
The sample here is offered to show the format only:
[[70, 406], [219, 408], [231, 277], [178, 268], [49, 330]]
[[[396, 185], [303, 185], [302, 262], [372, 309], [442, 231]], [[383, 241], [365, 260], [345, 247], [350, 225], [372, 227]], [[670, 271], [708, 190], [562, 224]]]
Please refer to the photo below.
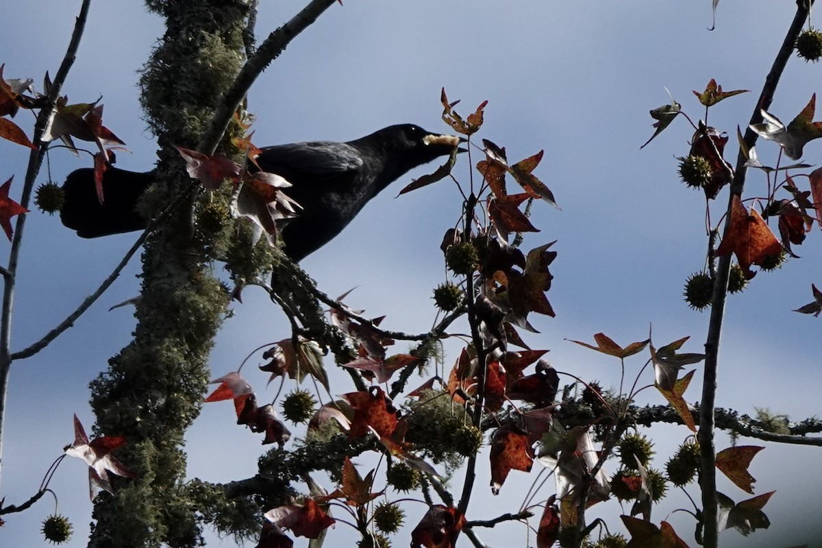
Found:
[[113, 493], [109, 472], [122, 477], [136, 477], [136, 474], [124, 467], [111, 452], [125, 444], [125, 438], [103, 436], [89, 441], [85, 435], [80, 419], [74, 416], [74, 443], [63, 450], [70, 457], [81, 458], [89, 465], [89, 496], [94, 500], [96, 490], [107, 490]]

